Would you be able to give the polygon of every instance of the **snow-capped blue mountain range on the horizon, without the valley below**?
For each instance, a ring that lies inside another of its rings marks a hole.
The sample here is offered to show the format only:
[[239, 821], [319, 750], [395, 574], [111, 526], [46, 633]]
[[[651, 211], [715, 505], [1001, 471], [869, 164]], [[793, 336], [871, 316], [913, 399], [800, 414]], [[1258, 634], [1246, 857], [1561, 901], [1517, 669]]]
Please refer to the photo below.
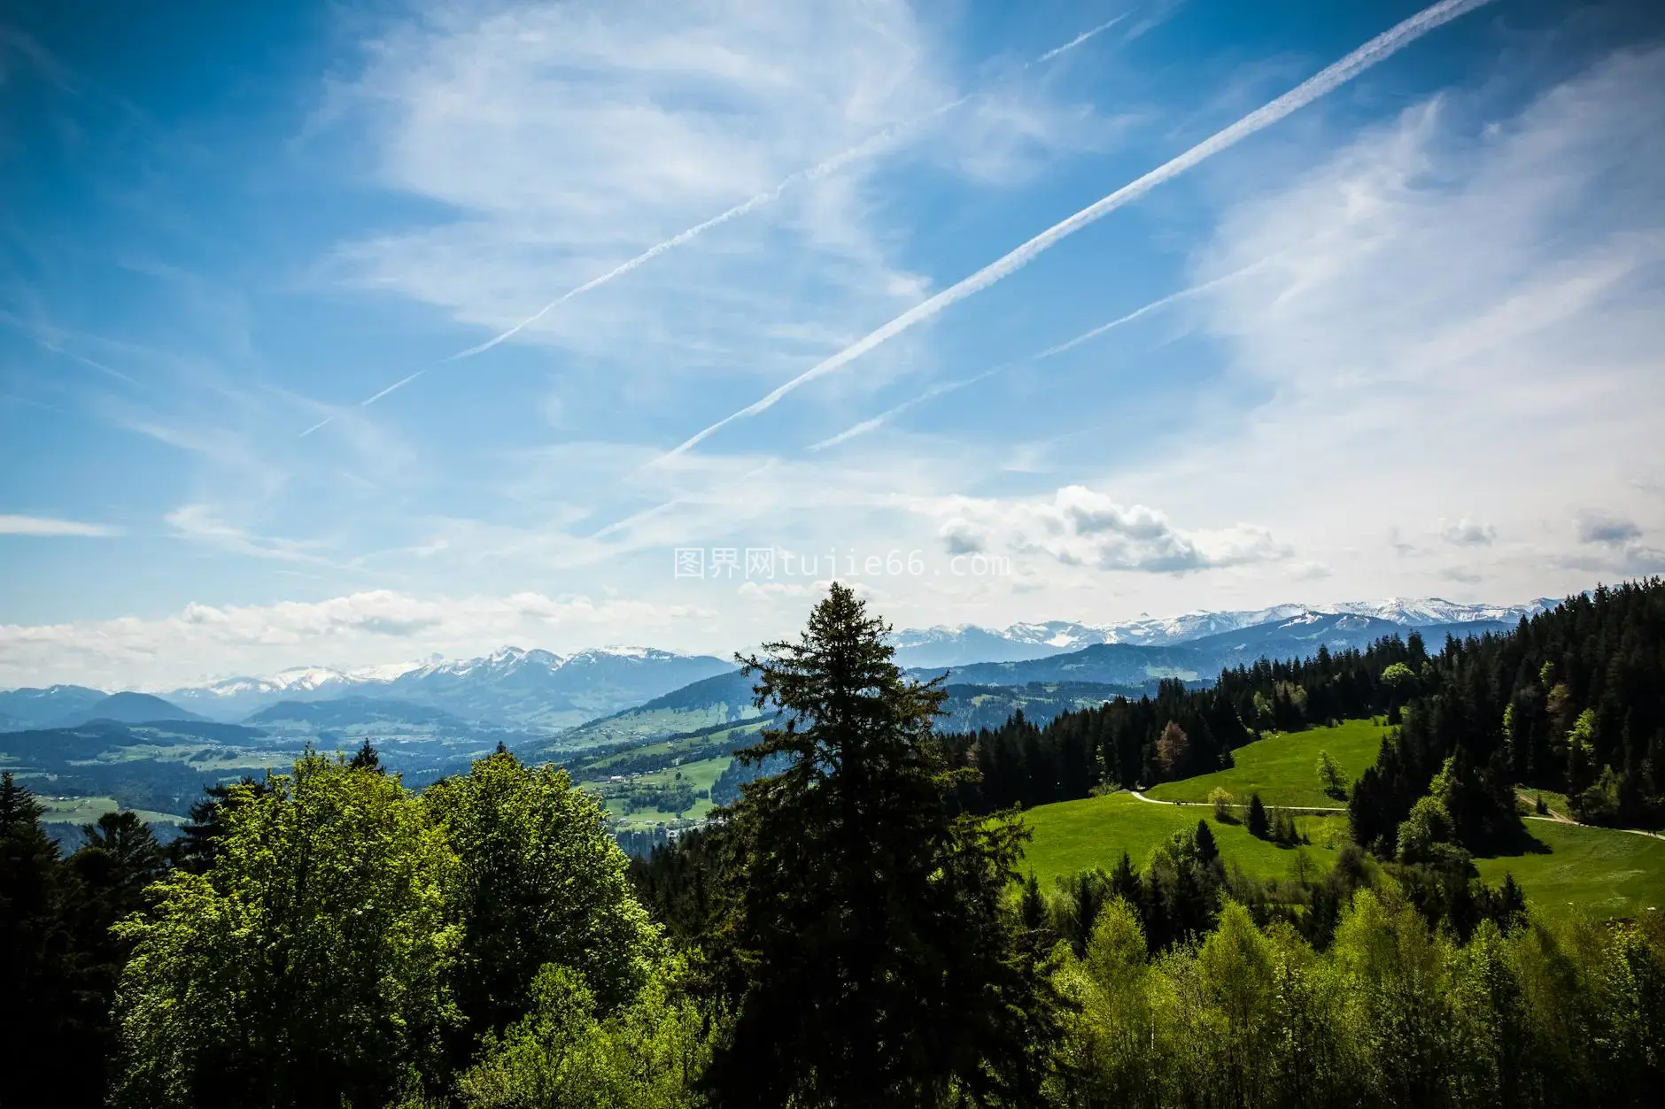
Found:
[[[1097, 696], [1057, 686], [1116, 686], [1139, 691], [1161, 678], [1210, 681], [1224, 666], [1262, 656], [1309, 656], [1319, 644], [1364, 646], [1419, 629], [1430, 646], [1457, 634], [1500, 631], [1553, 606], [1457, 604], [1439, 598], [1330, 606], [1279, 604], [1264, 609], [1187, 613], [1086, 624], [1022, 623], [1002, 629], [956, 628], [896, 633], [897, 661], [916, 674], [951, 671], [952, 684], [1027, 686], [1051, 691], [992, 698], [954, 723], [984, 723], [1001, 704]], [[273, 739], [315, 739], [320, 746], [356, 736], [461, 743], [465, 736], [559, 736], [558, 746], [624, 743], [754, 714], [751, 681], [731, 661], [654, 648], [601, 648], [576, 654], [504, 648], [465, 661], [405, 663], [366, 669], [308, 666], [270, 678], [226, 678], [205, 686], [115, 693], [85, 686], [0, 693], [0, 731], [77, 728], [108, 719], [248, 723]], [[1039, 699], [1036, 699], [1039, 698]], [[356, 743], [356, 739], [353, 739]]]

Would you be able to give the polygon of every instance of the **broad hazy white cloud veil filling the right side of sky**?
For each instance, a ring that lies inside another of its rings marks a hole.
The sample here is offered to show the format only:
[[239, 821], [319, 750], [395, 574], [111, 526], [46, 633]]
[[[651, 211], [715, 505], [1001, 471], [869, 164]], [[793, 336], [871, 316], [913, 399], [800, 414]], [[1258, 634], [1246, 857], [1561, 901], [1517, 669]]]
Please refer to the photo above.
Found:
[[[1642, 536], [1665, 516], [1630, 480], [1665, 411], [1662, 78], [1665, 50], [1620, 50], [1503, 112], [1452, 90], [1227, 203], [1197, 276], [1264, 265], [1199, 321], [1252, 408], [1199, 418], [1141, 493], [1240, 505], [1324, 558], [1337, 596], [1434, 573], [1530, 596], [1657, 564]], [[1580, 526], [1592, 490], [1617, 526]], [[1417, 520], [1440, 523], [1340, 551]]]

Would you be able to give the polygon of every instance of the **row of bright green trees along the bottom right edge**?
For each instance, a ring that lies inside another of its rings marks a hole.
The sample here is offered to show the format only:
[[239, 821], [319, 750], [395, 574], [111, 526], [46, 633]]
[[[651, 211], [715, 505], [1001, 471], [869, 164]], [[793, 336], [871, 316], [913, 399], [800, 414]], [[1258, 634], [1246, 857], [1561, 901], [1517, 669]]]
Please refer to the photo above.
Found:
[[1389, 888], [1324, 952], [1227, 904], [1152, 961], [1112, 901], [1057, 957], [1076, 1004], [1054, 1106], [1645, 1106], [1665, 1079], [1657, 929], [1487, 921], [1459, 946]]

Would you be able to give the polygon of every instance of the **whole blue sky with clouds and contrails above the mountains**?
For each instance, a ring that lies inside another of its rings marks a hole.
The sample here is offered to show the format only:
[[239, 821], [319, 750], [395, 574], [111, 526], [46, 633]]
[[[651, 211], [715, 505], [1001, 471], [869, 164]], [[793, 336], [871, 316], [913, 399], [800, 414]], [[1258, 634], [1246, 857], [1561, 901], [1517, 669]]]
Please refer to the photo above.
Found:
[[1643, 2], [7, 5], [0, 686], [1665, 573], [1662, 88]]

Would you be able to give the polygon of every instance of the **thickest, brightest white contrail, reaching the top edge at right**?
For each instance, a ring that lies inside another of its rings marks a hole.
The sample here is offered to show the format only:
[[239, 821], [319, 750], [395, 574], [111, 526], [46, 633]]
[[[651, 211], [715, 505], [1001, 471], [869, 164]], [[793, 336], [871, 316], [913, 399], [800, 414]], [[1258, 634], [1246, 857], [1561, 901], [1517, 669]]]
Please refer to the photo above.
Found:
[[1129, 185], [1122, 185], [1109, 196], [1104, 196], [1102, 200], [1082, 208], [1067, 220], [1054, 223], [1047, 230], [1031, 238], [1022, 246], [1017, 246], [1011, 253], [977, 270], [969, 278], [964, 278], [956, 285], [951, 285], [949, 288], [942, 290], [931, 300], [914, 305], [912, 308], [896, 316], [879, 330], [856, 340], [844, 350], [832, 355], [831, 358], [816, 363], [814, 366], [803, 371], [786, 385], [776, 388], [763, 400], [748, 405], [746, 408], [741, 408], [739, 411], [724, 416], [723, 420], [718, 420], [711, 426], [704, 428], [689, 440], [674, 446], [671, 451], [663, 455], [659, 461], [666, 458], [674, 458], [676, 455], [693, 450], [706, 438], [709, 438], [713, 433], [716, 433], [719, 428], [724, 428], [736, 420], [746, 416], [756, 416], [758, 413], [773, 408], [776, 401], [779, 401], [783, 396], [799, 388], [801, 385], [808, 385], [809, 381], [814, 381], [823, 375], [839, 370], [841, 366], [866, 355], [874, 346], [909, 330], [916, 323], [924, 323], [926, 320], [936, 316], [949, 305], [966, 300], [967, 296], [972, 296], [974, 293], [979, 293], [987, 286], [994, 285], [1001, 278], [1016, 273], [1017, 270], [1029, 265], [1029, 261], [1032, 261], [1036, 256], [1039, 256], [1044, 250], [1047, 250], [1054, 243], [1074, 235], [1089, 223], [1104, 218], [1106, 215], [1116, 211], [1127, 201], [1144, 196], [1157, 185], [1167, 182], [1169, 178], [1179, 177], [1180, 173], [1197, 165], [1199, 162], [1204, 162], [1217, 155], [1219, 152], [1237, 145], [1249, 135], [1254, 135], [1255, 132], [1264, 130], [1272, 123], [1277, 123], [1285, 115], [1290, 115], [1299, 108], [1304, 108], [1319, 97], [1324, 97], [1330, 90], [1347, 83], [1349, 80], [1365, 72], [1377, 62], [1392, 57], [1400, 48], [1410, 45], [1412, 42], [1429, 33], [1435, 27], [1440, 27], [1442, 23], [1447, 23], [1485, 3], [1490, 3], [1490, 0], [1440, 0], [1440, 3], [1424, 8], [1417, 15], [1412, 15], [1404, 23], [1399, 23], [1392, 30], [1387, 30], [1372, 38], [1370, 42], [1367, 42], [1365, 45], [1359, 47], [1340, 62], [1335, 62], [1334, 65], [1324, 68], [1317, 75], [1307, 78], [1305, 82], [1289, 90], [1277, 100], [1250, 112], [1249, 115], [1237, 120], [1230, 127], [1215, 132], [1214, 135], [1202, 140], [1200, 143], [1197, 143], [1185, 153], [1179, 155], [1177, 158], [1172, 158], [1159, 165], [1157, 168], [1151, 170], [1149, 173], [1146, 173], [1144, 177]]

